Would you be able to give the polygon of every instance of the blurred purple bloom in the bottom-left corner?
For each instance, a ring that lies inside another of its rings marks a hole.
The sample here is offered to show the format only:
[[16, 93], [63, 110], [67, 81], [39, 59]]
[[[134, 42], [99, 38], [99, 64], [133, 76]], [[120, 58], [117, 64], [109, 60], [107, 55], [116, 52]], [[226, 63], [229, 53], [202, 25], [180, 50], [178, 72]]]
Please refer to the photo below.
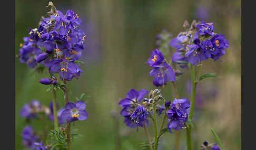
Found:
[[25, 147], [34, 149], [34, 143], [38, 140], [38, 137], [35, 136], [33, 128], [29, 125], [25, 126], [22, 131], [22, 143]]

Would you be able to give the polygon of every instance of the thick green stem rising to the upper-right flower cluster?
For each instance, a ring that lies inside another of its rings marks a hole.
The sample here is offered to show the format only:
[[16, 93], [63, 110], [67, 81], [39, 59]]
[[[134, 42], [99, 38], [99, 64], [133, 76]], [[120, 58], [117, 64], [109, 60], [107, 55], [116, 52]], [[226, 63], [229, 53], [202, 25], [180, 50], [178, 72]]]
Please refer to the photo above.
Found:
[[[189, 64], [189, 66], [190, 66], [190, 75], [191, 75], [191, 84], [192, 84], [189, 119], [192, 121], [193, 110], [194, 110], [195, 91], [196, 91], [196, 81], [195, 81], [195, 75], [194, 75], [194, 68], [191, 64]], [[192, 150], [191, 125], [188, 126], [187, 131], [186, 131], [186, 144], [188, 146], [188, 150]]]

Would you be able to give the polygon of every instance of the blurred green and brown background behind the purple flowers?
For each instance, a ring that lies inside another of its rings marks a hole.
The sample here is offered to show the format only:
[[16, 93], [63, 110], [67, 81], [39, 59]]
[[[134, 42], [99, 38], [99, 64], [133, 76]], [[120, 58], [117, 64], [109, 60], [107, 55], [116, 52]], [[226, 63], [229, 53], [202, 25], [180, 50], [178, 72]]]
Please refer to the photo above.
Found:
[[[130, 89], [154, 88], [151, 68], [145, 63], [150, 51], [156, 48], [155, 36], [162, 29], [173, 37], [183, 31], [185, 19], [214, 23], [215, 33], [224, 34], [230, 47], [220, 60], [207, 60], [202, 73], [215, 72], [221, 79], [206, 79], [200, 83], [201, 101], [195, 109], [192, 132], [194, 149], [199, 149], [204, 140], [216, 142], [210, 128], [220, 136], [226, 149], [241, 149], [241, 1], [53, 1], [64, 14], [72, 9], [82, 19], [81, 29], [86, 37], [85, 50], [79, 80], [68, 82], [71, 101], [82, 93], [91, 97], [86, 101], [88, 119], [76, 122], [75, 128], [82, 137], [72, 143], [73, 149], [140, 149], [137, 145], [145, 142], [143, 128], [126, 127], [119, 115], [121, 107], [117, 102], [125, 98]], [[35, 28], [42, 15], [46, 15], [48, 1], [16, 1], [15, 40], [16, 54], [23, 37], [28, 36], [29, 27]], [[200, 15], [200, 11], [201, 13]], [[199, 12], [199, 14], [197, 13]], [[203, 14], [203, 15], [202, 15]], [[175, 49], [171, 49], [173, 53]], [[170, 59], [171, 55], [169, 56]], [[189, 69], [180, 69], [184, 74], [178, 80], [181, 98], [190, 99], [186, 83], [190, 78]], [[15, 112], [16, 149], [24, 149], [21, 132], [26, 125], [19, 116], [22, 106], [32, 99], [48, 105], [52, 93], [46, 85], [38, 83], [47, 73], [30, 75], [28, 68], [19, 59], [15, 61]], [[214, 92], [214, 94], [210, 94]], [[163, 97], [171, 100], [172, 84], [162, 89]], [[63, 92], [57, 92], [57, 101], [64, 106]], [[199, 101], [199, 100], [195, 100]], [[116, 116], [116, 117], [115, 117]], [[50, 121], [32, 120], [35, 131], [45, 126], [53, 128]], [[44, 133], [44, 131], [41, 131]], [[47, 134], [48, 132], [46, 132]], [[150, 122], [149, 133], [153, 137]], [[174, 134], [165, 134], [160, 139], [160, 149], [173, 149]], [[185, 131], [181, 131], [180, 149], [185, 149]]]

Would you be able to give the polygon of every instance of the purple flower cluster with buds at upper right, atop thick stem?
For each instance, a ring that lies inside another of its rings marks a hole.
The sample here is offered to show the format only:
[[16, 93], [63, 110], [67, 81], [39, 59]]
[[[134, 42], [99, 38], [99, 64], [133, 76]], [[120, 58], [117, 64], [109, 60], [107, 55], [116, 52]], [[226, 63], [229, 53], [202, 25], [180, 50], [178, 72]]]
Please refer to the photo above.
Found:
[[218, 60], [229, 47], [229, 42], [224, 35], [214, 33], [213, 23], [193, 22], [189, 31], [181, 32], [170, 40], [170, 46], [177, 49], [172, 62], [184, 68], [186, 64], [182, 65], [181, 61], [197, 65], [209, 58]]

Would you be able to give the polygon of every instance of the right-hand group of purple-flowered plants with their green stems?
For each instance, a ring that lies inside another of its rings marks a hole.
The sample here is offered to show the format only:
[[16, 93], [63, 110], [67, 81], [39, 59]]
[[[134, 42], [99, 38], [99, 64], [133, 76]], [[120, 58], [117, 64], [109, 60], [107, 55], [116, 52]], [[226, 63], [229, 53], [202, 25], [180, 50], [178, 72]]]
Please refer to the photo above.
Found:
[[[131, 89], [126, 94], [126, 98], [119, 101], [122, 106], [121, 115], [124, 117], [124, 123], [128, 127], [143, 127], [147, 137], [147, 143], [142, 146], [149, 149], [157, 149], [159, 138], [166, 132], [175, 133], [174, 149], [179, 149], [180, 130], [186, 130], [186, 147], [192, 149], [191, 131], [194, 100], [196, 93], [196, 84], [205, 78], [218, 77], [213, 73], [201, 75], [201, 66], [204, 61], [213, 59], [218, 60], [225, 54], [225, 49], [229, 47], [229, 42], [224, 35], [216, 34], [213, 23], [196, 22], [193, 20], [190, 25], [188, 21], [183, 24], [185, 31], [179, 33], [178, 36], [171, 39], [171, 34], [163, 30], [161, 34], [156, 36], [157, 49], [151, 51], [147, 64], [152, 68], [149, 75], [153, 76], [153, 84], [155, 87], [164, 88], [165, 84], [173, 85], [173, 101], [165, 100], [160, 89], [151, 90], [146, 98], [147, 90], [136, 91]], [[166, 46], [166, 42], [169, 45]], [[176, 51], [170, 57], [170, 47]], [[166, 58], [171, 58], [170, 60]], [[176, 80], [181, 79], [183, 73], [178, 67], [190, 68], [191, 74], [191, 98], [179, 98]], [[194, 69], [196, 68], [196, 74]], [[196, 76], [195, 76], [196, 75]], [[143, 99], [144, 98], [144, 99]], [[143, 99], [143, 102], [142, 102]], [[164, 106], [160, 105], [164, 103]], [[156, 114], [161, 115], [164, 112], [160, 128], [157, 127]], [[154, 138], [150, 139], [147, 132], [147, 126], [152, 119], [154, 125]], [[168, 122], [164, 128], [165, 120]], [[193, 120], [194, 121], [194, 120]], [[214, 133], [216, 141], [221, 145], [220, 138]], [[218, 138], [217, 138], [218, 137]], [[201, 149], [220, 149], [216, 144], [206, 144], [204, 142]]]

